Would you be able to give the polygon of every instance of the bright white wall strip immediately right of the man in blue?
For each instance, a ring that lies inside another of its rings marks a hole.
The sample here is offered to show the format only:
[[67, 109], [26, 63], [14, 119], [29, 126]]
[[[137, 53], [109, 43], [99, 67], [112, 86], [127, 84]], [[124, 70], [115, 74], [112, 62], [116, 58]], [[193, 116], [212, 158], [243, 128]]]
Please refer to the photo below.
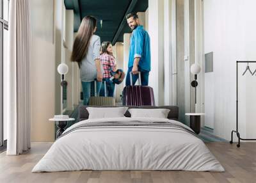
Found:
[[156, 105], [164, 104], [164, 1], [148, 1], [151, 71], [148, 85], [154, 90]]

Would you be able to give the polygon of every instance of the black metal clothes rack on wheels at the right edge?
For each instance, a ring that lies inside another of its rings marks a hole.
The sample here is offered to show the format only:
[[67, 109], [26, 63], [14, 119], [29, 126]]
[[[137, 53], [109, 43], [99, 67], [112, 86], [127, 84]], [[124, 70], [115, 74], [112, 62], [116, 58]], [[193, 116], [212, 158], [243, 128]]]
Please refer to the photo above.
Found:
[[233, 143], [233, 132], [236, 133], [237, 138], [238, 138], [238, 144], [236, 145], [237, 147], [240, 147], [240, 140], [256, 140], [256, 139], [246, 139], [246, 138], [241, 138], [240, 133], [238, 131], [238, 64], [239, 63], [256, 63], [256, 61], [236, 61], [236, 131], [231, 132], [231, 141], [230, 143]]

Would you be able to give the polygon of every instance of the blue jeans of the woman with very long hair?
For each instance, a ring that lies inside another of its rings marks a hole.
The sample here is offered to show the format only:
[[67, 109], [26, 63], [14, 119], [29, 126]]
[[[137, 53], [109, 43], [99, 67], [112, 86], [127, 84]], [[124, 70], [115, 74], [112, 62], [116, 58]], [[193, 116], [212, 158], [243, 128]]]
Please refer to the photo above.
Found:
[[[99, 93], [100, 93], [100, 87], [101, 87], [101, 83], [102, 82], [99, 82], [97, 81], [97, 96], [99, 96]], [[95, 96], [95, 93], [94, 93], [94, 81], [91, 81], [91, 82], [83, 82], [82, 81], [82, 88], [83, 88], [83, 97], [84, 97], [84, 102], [83, 102], [83, 105], [84, 106], [88, 106], [88, 102], [89, 102], [89, 99], [90, 97], [93, 97]]]

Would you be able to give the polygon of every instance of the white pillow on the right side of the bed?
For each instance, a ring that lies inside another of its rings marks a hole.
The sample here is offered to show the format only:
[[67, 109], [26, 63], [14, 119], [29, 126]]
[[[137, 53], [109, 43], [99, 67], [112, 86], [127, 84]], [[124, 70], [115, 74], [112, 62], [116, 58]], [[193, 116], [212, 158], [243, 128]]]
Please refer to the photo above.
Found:
[[170, 109], [129, 109], [132, 118], [150, 117], [150, 118], [167, 118]]

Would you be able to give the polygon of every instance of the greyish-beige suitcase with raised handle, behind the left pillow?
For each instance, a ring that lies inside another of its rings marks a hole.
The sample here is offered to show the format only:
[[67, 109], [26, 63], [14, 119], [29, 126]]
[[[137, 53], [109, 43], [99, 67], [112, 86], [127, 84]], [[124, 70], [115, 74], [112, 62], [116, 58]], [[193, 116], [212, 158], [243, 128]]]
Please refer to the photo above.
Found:
[[89, 106], [115, 106], [115, 98], [114, 97], [106, 97], [107, 96], [107, 84], [104, 81], [104, 90], [105, 97], [97, 97], [97, 86], [96, 81], [94, 81], [94, 97], [90, 97]]

